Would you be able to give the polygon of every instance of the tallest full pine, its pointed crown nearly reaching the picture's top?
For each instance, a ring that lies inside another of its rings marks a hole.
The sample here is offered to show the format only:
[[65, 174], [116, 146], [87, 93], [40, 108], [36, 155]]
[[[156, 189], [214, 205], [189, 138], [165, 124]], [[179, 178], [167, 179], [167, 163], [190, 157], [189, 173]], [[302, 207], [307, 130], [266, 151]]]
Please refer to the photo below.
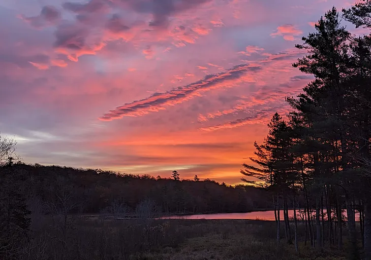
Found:
[[[332, 8], [316, 24], [316, 32], [303, 37], [303, 45], [297, 45], [298, 49], [306, 49], [308, 55], [298, 59], [294, 67], [304, 73], [311, 73], [315, 80], [304, 88], [304, 93], [299, 95], [296, 101], [288, 100], [293, 108], [301, 110], [302, 115], [312, 126], [312, 140], [318, 143], [317, 151], [312, 151], [313, 173], [316, 194], [316, 234], [317, 245], [322, 246], [320, 225], [320, 201], [321, 189], [324, 186], [323, 163], [328, 156], [326, 151], [330, 150], [328, 145], [335, 143], [339, 145], [338, 153], [341, 155], [341, 172], [337, 174], [337, 183], [342, 184], [343, 176], [349, 174], [348, 135], [347, 127], [347, 96], [349, 88], [346, 82], [351, 75], [349, 68], [349, 44], [350, 33], [340, 25], [338, 12]], [[321, 147], [322, 146], [322, 147]], [[340, 181], [340, 182], [339, 182]], [[347, 183], [348, 184], [348, 183]], [[347, 205], [352, 200], [349, 191], [346, 190]], [[348, 209], [348, 218], [354, 219], [351, 208]], [[351, 222], [352, 240], [355, 236], [352, 231], [355, 228]], [[338, 225], [341, 228], [342, 225]], [[341, 236], [338, 241], [342, 246]]]

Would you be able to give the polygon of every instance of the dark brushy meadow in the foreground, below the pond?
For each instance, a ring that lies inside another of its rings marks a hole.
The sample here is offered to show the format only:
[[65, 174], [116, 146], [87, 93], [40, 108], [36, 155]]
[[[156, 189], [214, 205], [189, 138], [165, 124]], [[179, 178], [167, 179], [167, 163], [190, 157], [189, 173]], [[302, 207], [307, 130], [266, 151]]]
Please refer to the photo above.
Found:
[[[32, 234], [28, 256], [22, 259], [348, 259], [344, 251], [304, 246], [300, 252], [283, 238], [276, 245], [275, 222], [260, 220], [74, 219], [64, 227], [49, 222]], [[282, 225], [283, 226], [283, 225]], [[293, 230], [293, 229], [292, 229]], [[299, 227], [304, 234], [304, 227]], [[281, 234], [284, 234], [282, 231]], [[21, 258], [18, 258], [21, 259]]]

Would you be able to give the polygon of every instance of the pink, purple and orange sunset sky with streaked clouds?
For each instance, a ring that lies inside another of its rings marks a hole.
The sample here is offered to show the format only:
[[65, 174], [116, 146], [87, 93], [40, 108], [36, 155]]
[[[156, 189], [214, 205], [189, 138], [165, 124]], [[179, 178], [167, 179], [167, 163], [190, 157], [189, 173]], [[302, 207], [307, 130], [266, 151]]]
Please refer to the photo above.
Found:
[[2, 0], [0, 132], [26, 163], [239, 183], [313, 79], [295, 44], [351, 1]]

